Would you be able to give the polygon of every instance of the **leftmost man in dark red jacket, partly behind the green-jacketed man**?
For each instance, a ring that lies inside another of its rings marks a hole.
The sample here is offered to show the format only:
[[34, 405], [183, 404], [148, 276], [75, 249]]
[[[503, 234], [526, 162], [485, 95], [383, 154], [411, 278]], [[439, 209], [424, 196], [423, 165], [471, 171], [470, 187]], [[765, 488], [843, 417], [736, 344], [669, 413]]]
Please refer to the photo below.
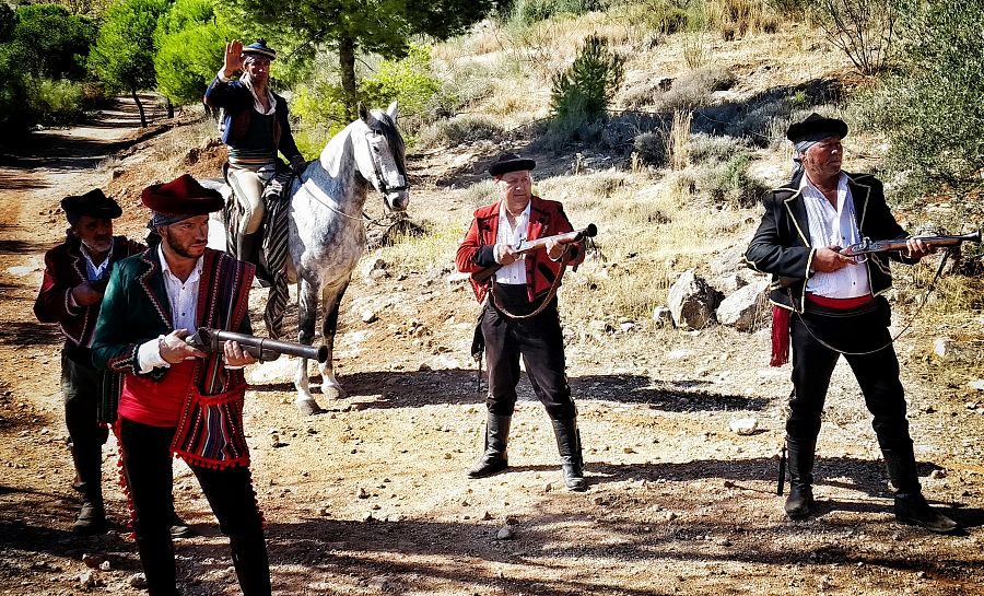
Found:
[[75, 489], [82, 493], [73, 529], [95, 534], [106, 529], [102, 445], [108, 430], [97, 418], [102, 373], [92, 364], [90, 348], [113, 265], [142, 252], [143, 246], [113, 235], [113, 220], [122, 211], [99, 189], [66, 197], [61, 208], [71, 227], [65, 242], [45, 255], [45, 278], [34, 314], [42, 323], [57, 323], [65, 335], [65, 422], [72, 441]]

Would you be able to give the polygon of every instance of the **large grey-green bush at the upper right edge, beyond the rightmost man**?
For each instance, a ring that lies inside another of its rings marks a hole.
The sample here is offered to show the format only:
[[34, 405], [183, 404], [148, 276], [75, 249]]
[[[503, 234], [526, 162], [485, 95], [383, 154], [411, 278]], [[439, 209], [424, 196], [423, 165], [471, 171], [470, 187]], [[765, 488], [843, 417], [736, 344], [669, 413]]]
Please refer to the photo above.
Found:
[[[946, 0], [926, 2], [904, 21], [903, 67], [858, 103], [871, 125], [888, 133], [893, 171], [907, 196], [984, 189], [984, 11]], [[959, 210], [974, 207], [954, 201]], [[959, 218], [958, 218], [959, 219]]]

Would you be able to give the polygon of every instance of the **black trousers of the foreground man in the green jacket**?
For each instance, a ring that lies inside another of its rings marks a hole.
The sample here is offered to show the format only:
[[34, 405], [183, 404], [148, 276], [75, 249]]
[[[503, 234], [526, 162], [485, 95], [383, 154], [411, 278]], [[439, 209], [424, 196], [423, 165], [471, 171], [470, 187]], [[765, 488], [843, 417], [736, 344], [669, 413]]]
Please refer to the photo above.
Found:
[[[177, 594], [171, 538], [174, 515], [171, 443], [175, 431], [174, 428], [148, 426], [120, 419], [124, 470], [133, 504], [133, 530], [151, 596]], [[249, 468], [190, 468], [219, 519], [219, 528], [229, 536], [243, 594], [269, 596], [270, 564]]]

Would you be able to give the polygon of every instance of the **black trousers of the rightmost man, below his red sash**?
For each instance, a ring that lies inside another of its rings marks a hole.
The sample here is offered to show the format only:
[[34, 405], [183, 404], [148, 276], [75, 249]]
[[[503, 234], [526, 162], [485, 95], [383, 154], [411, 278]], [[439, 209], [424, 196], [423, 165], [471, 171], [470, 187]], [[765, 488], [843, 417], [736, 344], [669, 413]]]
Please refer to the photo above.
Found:
[[[786, 421], [786, 434], [790, 439], [809, 442], [820, 432], [820, 414], [830, 377], [841, 357], [831, 349], [835, 348], [855, 352], [844, 354], [844, 358], [857, 378], [865, 406], [874, 417], [871, 426], [882, 452], [912, 454], [905, 392], [899, 379], [899, 359], [888, 329], [890, 318], [889, 305], [883, 297], [876, 299], [871, 307], [858, 311], [835, 312], [808, 306], [801, 316], [792, 316], [794, 393]], [[869, 354], [856, 353], [886, 344], [887, 348]]]

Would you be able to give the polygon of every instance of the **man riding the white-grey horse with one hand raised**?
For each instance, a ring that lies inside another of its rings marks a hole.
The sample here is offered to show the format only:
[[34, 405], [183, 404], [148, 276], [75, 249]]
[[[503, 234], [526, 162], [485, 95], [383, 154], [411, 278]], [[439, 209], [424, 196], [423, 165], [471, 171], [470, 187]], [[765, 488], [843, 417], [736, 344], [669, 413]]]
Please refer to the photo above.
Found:
[[[225, 62], [204, 94], [206, 104], [224, 110], [221, 130], [222, 142], [229, 145], [226, 177], [238, 202], [237, 224], [230, 226], [235, 239], [229, 246], [236, 258], [254, 264], [259, 262], [265, 190], [283, 170], [278, 150], [294, 172], [305, 166], [291, 135], [286, 101], [269, 87], [270, 62], [276, 58], [277, 52], [262, 39], [246, 47], [238, 39], [230, 42]], [[237, 71], [243, 74], [234, 81]]]

